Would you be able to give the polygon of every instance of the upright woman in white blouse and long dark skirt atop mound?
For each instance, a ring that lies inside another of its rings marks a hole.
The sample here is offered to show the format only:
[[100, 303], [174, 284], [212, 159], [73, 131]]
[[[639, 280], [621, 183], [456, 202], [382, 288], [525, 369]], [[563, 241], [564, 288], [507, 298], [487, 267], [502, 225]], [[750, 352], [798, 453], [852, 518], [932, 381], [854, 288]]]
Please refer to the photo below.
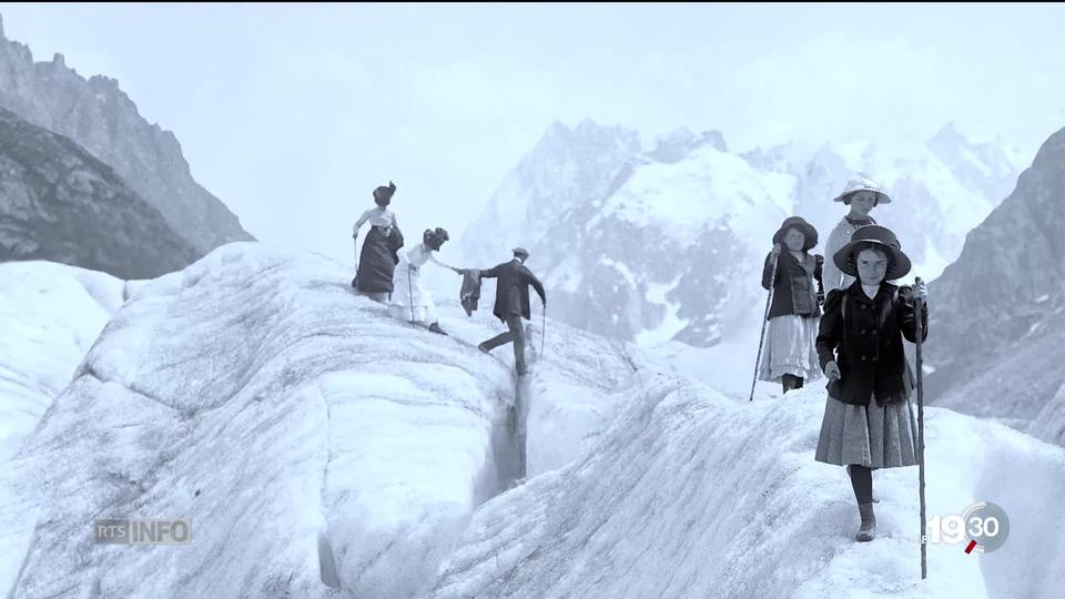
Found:
[[396, 184], [388, 182], [374, 190], [374, 202], [377, 207], [367, 210], [356, 221], [352, 230], [352, 238], [358, 246], [358, 229], [367, 221], [371, 224], [369, 234], [363, 242], [363, 252], [358, 256], [358, 270], [352, 286], [359, 293], [368, 295], [376, 302], [385, 303], [393, 292], [392, 278], [396, 263], [399, 262], [396, 252], [403, 247], [403, 234], [396, 224], [396, 215], [388, 210]]

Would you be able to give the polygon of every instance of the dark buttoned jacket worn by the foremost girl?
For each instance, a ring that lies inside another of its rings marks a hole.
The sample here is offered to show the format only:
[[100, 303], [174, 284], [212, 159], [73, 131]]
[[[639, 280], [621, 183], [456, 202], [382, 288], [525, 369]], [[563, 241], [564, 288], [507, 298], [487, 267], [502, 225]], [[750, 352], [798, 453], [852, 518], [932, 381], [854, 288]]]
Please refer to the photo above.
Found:
[[[903, 402], [907, 396], [906, 357], [902, 337], [916, 343], [913, 303], [906, 294], [895, 296], [897, 286], [884, 283], [870, 300], [861, 281], [845, 290], [832, 290], [824, 300], [824, 315], [818, 334], [821, 370], [835, 361], [842, 375], [829, 383], [829, 395], [844, 404], [878, 405]], [[846, 322], [843, 304], [846, 303]], [[922, 343], [929, 336], [929, 306], [921, 311]]]

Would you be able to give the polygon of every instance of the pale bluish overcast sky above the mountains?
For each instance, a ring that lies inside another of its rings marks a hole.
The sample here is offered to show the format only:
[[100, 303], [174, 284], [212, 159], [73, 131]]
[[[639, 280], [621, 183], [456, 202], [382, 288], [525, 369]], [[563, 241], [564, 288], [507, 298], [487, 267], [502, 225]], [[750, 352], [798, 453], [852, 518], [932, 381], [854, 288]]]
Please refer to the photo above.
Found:
[[[119, 80], [262, 241], [352, 261], [390, 179], [455, 235], [554, 120], [730, 148], [920, 143], [1031, 158], [1065, 126], [1062, 4], [0, 4], [36, 60]], [[446, 246], [445, 246], [446, 250]]]

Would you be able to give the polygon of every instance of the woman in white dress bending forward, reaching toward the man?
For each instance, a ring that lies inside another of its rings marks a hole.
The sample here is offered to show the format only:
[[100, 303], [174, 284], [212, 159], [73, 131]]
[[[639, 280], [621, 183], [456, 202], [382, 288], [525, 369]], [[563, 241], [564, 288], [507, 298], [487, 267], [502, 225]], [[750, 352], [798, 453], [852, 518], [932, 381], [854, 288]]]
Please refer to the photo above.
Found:
[[426, 325], [429, 331], [440, 335], [447, 333], [440, 328], [437, 321], [433, 294], [422, 284], [422, 267], [433, 262], [456, 273], [460, 272], [433, 255], [448, 238], [447, 231], [440, 227], [435, 231], [427, 229], [422, 235], [422, 243], [399, 253], [399, 264], [393, 275], [392, 301], [388, 304], [388, 313], [393, 317]]

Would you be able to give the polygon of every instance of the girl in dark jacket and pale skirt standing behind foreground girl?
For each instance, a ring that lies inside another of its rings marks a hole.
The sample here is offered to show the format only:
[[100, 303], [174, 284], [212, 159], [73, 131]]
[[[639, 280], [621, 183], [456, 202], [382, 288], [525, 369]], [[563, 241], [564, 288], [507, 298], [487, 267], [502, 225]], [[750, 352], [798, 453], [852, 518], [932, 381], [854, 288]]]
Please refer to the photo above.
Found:
[[[780, 383], [788, 393], [804, 380], [821, 376], [813, 342], [821, 308], [814, 280], [820, 280], [821, 256], [811, 255], [818, 231], [799, 216], [784, 220], [773, 235], [773, 251], [765, 256], [762, 287], [773, 288], [769, 332], [759, 367], [759, 378]], [[775, 262], [775, 277], [773, 263]]]

